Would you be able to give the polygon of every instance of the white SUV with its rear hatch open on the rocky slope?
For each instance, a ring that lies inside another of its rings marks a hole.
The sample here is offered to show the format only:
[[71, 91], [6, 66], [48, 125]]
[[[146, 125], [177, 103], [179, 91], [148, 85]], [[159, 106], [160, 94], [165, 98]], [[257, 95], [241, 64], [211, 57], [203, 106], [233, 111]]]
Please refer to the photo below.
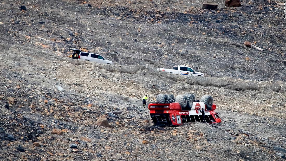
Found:
[[73, 59], [81, 59], [86, 61], [95, 61], [96, 63], [104, 63], [104, 64], [113, 64], [112, 61], [104, 59], [103, 56], [95, 53], [88, 53], [88, 52], [82, 52], [80, 49], [68, 49], [73, 50], [74, 53], [71, 55]]

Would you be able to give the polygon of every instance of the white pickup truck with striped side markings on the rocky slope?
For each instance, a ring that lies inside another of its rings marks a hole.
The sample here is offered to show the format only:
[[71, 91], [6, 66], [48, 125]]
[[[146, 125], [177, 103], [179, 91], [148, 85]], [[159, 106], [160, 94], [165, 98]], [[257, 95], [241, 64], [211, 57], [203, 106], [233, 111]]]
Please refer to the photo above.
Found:
[[192, 75], [192, 76], [204, 76], [204, 73], [197, 72], [194, 69], [184, 66], [178, 65], [174, 66], [173, 69], [165, 69], [165, 68], [158, 68], [157, 70], [166, 71], [169, 73], [180, 74], [180, 75]]

